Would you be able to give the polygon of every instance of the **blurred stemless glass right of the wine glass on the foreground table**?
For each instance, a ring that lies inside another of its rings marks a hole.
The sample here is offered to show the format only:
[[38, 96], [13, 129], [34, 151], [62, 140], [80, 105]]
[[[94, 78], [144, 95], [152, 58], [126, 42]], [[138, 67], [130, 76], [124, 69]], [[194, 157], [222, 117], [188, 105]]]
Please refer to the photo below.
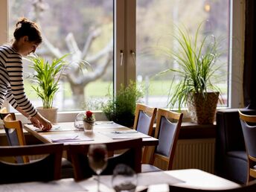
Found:
[[134, 192], [137, 185], [137, 174], [126, 164], [118, 164], [113, 171], [112, 188], [116, 192]]

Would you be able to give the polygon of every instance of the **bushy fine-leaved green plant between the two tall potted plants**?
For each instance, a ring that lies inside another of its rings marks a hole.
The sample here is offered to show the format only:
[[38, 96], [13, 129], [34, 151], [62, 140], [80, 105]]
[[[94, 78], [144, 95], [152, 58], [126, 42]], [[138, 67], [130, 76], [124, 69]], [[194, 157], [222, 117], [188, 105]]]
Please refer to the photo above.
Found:
[[129, 86], [121, 89], [114, 97], [109, 96], [109, 100], [103, 103], [103, 113], [109, 121], [126, 127], [132, 127], [135, 118], [136, 101], [143, 96], [141, 89], [138, 89], [135, 82], [130, 81]]

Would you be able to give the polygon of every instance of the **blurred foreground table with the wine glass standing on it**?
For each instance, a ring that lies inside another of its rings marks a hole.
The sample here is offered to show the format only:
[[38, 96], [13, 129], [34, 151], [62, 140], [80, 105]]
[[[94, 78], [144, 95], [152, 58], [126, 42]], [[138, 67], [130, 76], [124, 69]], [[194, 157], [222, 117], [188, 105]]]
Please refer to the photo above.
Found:
[[[74, 182], [74, 179], [60, 179], [53, 182], [25, 182], [0, 185], [1, 191], [8, 192], [79, 192], [97, 191], [96, 177]], [[100, 176], [100, 190], [113, 192], [111, 187], [112, 176]], [[109, 182], [109, 184], [108, 184]], [[167, 192], [168, 185], [182, 186], [197, 189], [229, 189], [239, 188], [240, 185], [197, 169], [167, 170], [153, 173], [138, 173], [138, 185], [136, 191], [148, 188], [149, 192]]]

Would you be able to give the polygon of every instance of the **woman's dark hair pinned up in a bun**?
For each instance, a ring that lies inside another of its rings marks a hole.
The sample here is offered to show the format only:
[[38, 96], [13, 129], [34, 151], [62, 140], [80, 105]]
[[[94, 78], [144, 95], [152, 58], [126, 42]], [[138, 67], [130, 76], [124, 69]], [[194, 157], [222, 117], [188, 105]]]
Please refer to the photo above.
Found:
[[16, 23], [16, 29], [13, 33], [16, 40], [19, 40], [22, 36], [28, 36], [30, 42], [36, 42], [40, 44], [42, 42], [41, 32], [35, 22], [31, 22], [26, 18], [21, 18]]

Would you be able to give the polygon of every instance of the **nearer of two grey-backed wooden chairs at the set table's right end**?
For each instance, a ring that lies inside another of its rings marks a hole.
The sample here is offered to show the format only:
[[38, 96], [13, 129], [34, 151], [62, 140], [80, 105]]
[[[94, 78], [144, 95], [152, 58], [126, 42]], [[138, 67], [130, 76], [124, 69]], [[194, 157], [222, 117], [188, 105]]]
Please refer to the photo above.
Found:
[[159, 170], [153, 166], [157, 159], [165, 161], [167, 167], [164, 170], [171, 170], [173, 165], [176, 143], [179, 137], [179, 130], [182, 125], [182, 113], [159, 109], [156, 115], [155, 138], [159, 139], [159, 145], [155, 147], [150, 164], [142, 164], [142, 172], [151, 172]]

